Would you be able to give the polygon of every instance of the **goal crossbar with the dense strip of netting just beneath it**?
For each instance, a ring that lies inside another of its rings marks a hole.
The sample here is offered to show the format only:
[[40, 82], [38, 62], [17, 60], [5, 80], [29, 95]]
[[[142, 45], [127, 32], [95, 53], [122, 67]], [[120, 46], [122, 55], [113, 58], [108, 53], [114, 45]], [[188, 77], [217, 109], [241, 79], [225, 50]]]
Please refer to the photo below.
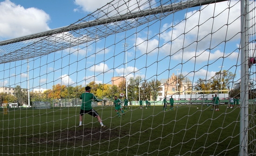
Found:
[[[102, 18], [102, 19], [96, 19], [88, 22], [77, 22], [77, 24], [71, 24], [69, 26], [35, 33], [32, 35], [23, 36], [20, 38], [15, 39], [8, 39], [5, 41], [0, 42], [0, 46], [3, 45], [9, 45], [9, 44], [15, 44], [18, 42], [23, 42], [27, 40], [31, 40], [30, 42], [23, 43], [23, 45], [18, 45], [16, 49], [7, 49], [8, 47], [2, 47], [0, 57], [2, 58], [0, 60], [0, 64], [8, 63], [12, 61], [17, 60], [23, 60], [23, 59], [29, 59], [34, 58], [34, 56], [44, 56], [52, 52], [57, 52], [63, 49], [67, 49], [69, 47], [81, 45], [83, 43], [93, 41], [95, 39], [101, 39], [103, 37], [107, 37], [109, 35], [118, 33], [118, 32], [124, 32], [127, 30], [130, 30], [136, 26], [141, 26], [145, 23], [148, 23], [148, 21], [153, 21], [156, 19], [159, 19], [163, 13], [175, 13], [177, 11], [180, 11], [184, 8], [189, 7], [198, 7], [202, 5], [207, 5], [211, 3], [216, 2], [222, 2], [226, 0], [191, 0], [191, 1], [185, 1], [182, 3], [175, 3], [170, 4], [166, 6], [160, 6], [155, 8], [149, 8], [142, 11], [137, 12], [129, 12], [120, 16], [112, 16], [108, 18]], [[151, 16], [154, 15], [154, 16]], [[157, 16], [156, 16], [157, 15]], [[90, 19], [91, 15], [88, 15], [88, 19]], [[164, 14], [166, 16], [166, 14]], [[132, 21], [132, 23], [129, 23], [131, 19], [136, 19], [136, 22]], [[146, 19], [146, 20], [145, 20]], [[123, 26], [117, 26], [118, 29], [111, 29], [109, 27], [116, 27], [115, 25], [120, 24], [117, 22], [120, 21], [126, 21], [126, 24], [123, 24]], [[114, 23], [114, 25], [112, 25]], [[98, 32], [99, 26], [108, 26], [108, 29], [105, 29], [106, 32]], [[112, 26], [111, 26], [112, 25]], [[92, 28], [95, 27], [95, 28]], [[88, 28], [88, 29], [86, 29]], [[76, 30], [85, 29], [83, 34], [80, 36], [75, 36]], [[71, 33], [72, 35], [67, 34], [67, 32]], [[57, 36], [58, 35], [58, 36]], [[52, 44], [49, 44], [49, 40], [55, 40], [52, 41]], [[56, 39], [59, 38], [59, 39]], [[62, 39], [68, 38], [70, 39], [67, 41], [66, 44], [63, 44]], [[60, 41], [60, 42], [58, 42]], [[58, 46], [60, 45], [60, 46]], [[31, 49], [33, 49], [33, 52], [31, 52]], [[50, 50], [49, 50], [50, 49]], [[13, 52], [19, 52], [20, 55], [12, 55]], [[10, 57], [11, 56], [11, 57]], [[19, 57], [17, 57], [19, 56]]]

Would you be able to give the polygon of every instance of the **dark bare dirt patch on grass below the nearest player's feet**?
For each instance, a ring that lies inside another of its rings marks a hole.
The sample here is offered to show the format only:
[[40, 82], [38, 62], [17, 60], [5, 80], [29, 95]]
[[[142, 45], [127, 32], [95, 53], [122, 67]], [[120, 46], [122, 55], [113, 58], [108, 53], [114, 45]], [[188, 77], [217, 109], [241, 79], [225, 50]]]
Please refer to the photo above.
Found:
[[57, 130], [43, 134], [36, 134], [33, 137], [27, 137], [28, 142], [32, 143], [47, 143], [50, 144], [84, 144], [84, 143], [99, 143], [106, 140], [112, 140], [114, 137], [125, 136], [126, 133], [120, 129], [109, 128], [85, 128], [75, 127], [65, 130]]

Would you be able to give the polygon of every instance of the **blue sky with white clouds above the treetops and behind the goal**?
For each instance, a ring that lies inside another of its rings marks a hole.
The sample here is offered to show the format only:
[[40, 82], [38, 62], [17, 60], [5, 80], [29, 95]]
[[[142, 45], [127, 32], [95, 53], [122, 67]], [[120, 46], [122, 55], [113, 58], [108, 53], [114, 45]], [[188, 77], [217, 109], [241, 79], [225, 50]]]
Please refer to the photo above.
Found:
[[[109, 1], [0, 0], [0, 41], [68, 26]], [[136, 0], [132, 2], [136, 3]], [[230, 10], [225, 9], [228, 5], [231, 6]], [[37, 58], [37, 63], [30, 60], [30, 70], [33, 69], [29, 72], [30, 88], [49, 89], [58, 83], [85, 85], [92, 80], [110, 83], [111, 77], [126, 73], [123, 52], [125, 42], [128, 43], [128, 77], [140, 75], [145, 80], [160, 80], [173, 73], [176, 75], [176, 69], [179, 69], [178, 74], [182, 72], [182, 75], [195, 83], [198, 78], [211, 78], [223, 66], [222, 70], [236, 73], [234, 81], [239, 80], [240, 3], [231, 0], [203, 6], [198, 12], [199, 9], [185, 9], [154, 25], [151, 25], [154, 22], [150, 22], [149, 25], [111, 35], [97, 42], [54, 52]], [[184, 20], [184, 17], [187, 19]], [[184, 32], [185, 36], [182, 35]], [[76, 52], [77, 49], [79, 51]], [[97, 54], [88, 57], [94, 52]], [[77, 62], [80, 60], [78, 58], [82, 60]], [[14, 68], [17, 65], [20, 69]], [[0, 86], [13, 87], [19, 84], [23, 88], [27, 87], [26, 60], [0, 67], [5, 69], [0, 71], [4, 75], [4, 78], [0, 78]], [[7, 70], [9, 68], [11, 70]]]

